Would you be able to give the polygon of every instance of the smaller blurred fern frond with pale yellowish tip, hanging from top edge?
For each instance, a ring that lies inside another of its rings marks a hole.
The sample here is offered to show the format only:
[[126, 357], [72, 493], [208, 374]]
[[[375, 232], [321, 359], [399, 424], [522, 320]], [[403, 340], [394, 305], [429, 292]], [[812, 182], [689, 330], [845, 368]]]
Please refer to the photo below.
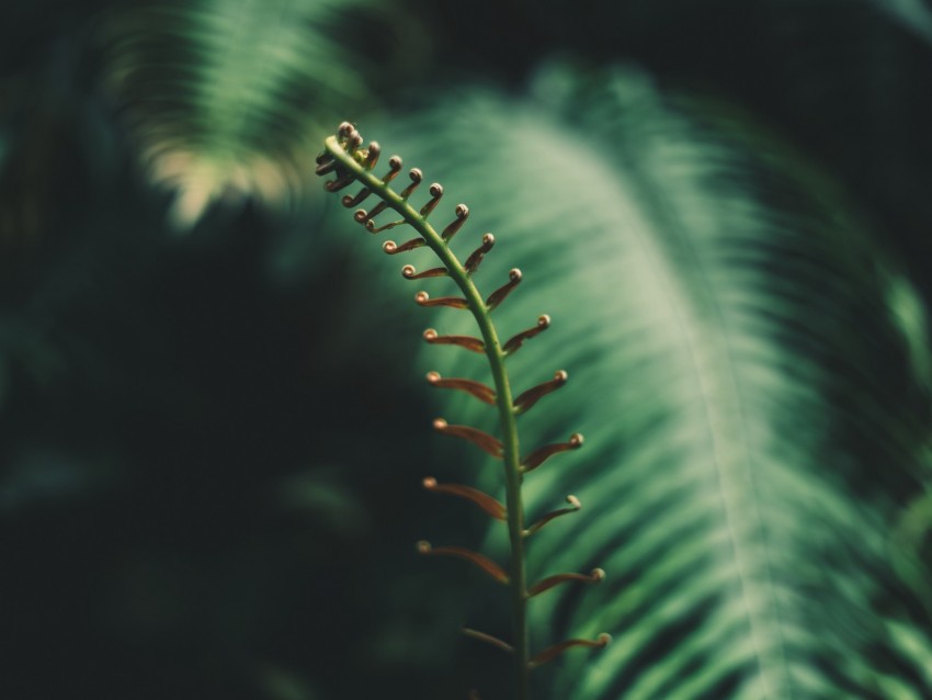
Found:
[[367, 4], [167, 2], [104, 24], [111, 89], [152, 179], [178, 192], [177, 227], [219, 197], [280, 204], [302, 194], [330, 123], [370, 97], [362, 76], [372, 70], [341, 38]]

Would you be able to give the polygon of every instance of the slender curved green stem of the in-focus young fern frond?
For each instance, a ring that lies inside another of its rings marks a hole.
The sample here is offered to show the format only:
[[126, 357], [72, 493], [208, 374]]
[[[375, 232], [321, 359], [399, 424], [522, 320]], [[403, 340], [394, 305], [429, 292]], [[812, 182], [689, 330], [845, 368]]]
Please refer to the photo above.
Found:
[[505, 506], [508, 508], [508, 534], [511, 544], [510, 587], [512, 600], [512, 617], [514, 623], [514, 664], [516, 678], [516, 700], [530, 699], [528, 662], [530, 644], [527, 634], [527, 575], [524, 556], [524, 506], [521, 499], [521, 456], [518, 443], [518, 425], [514, 407], [512, 406], [511, 385], [504, 366], [504, 353], [492, 323], [491, 313], [486, 306], [479, 290], [466, 272], [463, 264], [450, 249], [447, 242], [434, 230], [428, 221], [421, 216], [408, 202], [401, 199], [390, 187], [379, 178], [365, 170], [340, 146], [333, 136], [326, 140], [327, 151], [340, 165], [351, 171], [355, 179], [368, 188], [388, 206], [398, 212], [401, 217], [423, 237], [428, 247], [436, 253], [446, 267], [451, 279], [468, 303], [469, 311], [476, 319], [479, 332], [486, 343], [486, 357], [496, 387], [496, 403], [501, 427], [503, 461], [505, 474]]

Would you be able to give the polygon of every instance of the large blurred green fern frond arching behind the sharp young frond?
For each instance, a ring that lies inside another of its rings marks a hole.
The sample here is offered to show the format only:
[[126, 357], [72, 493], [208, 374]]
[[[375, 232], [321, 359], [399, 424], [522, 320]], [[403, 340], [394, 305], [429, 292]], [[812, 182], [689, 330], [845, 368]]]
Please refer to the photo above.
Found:
[[[930, 482], [909, 282], [830, 181], [746, 117], [636, 71], [583, 78], [546, 72], [545, 105], [461, 97], [406, 123], [420, 140], [383, 142], [469, 193], [471, 230], [500, 240], [486, 286], [524, 271], [503, 332], [553, 316], [511, 362], [519, 389], [570, 373], [521, 418], [525, 450], [587, 436], [527, 478], [532, 519], [583, 503], [535, 535], [531, 573], [609, 580], [532, 601], [535, 643], [615, 642], [567, 654], [542, 693], [930, 697], [928, 569], [889, 535]], [[432, 324], [468, 328], [452, 311]], [[481, 376], [462, 353], [425, 360]], [[446, 414], [493, 425], [480, 411]]]

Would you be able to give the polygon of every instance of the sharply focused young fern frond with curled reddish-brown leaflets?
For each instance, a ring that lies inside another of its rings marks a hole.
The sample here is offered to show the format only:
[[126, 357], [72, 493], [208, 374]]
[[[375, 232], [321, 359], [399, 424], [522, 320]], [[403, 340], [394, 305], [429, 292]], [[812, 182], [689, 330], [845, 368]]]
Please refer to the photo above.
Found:
[[[564, 370], [555, 373], [549, 382], [530, 388], [516, 398], [512, 395], [511, 383], [505, 370], [505, 358], [516, 352], [524, 342], [539, 335], [550, 326], [549, 316], [541, 316], [535, 326], [522, 330], [505, 342], [499, 340], [498, 330], [492, 323], [492, 311], [502, 304], [522, 281], [523, 275], [518, 268], [509, 272], [509, 280], [502, 286], [484, 296], [475, 282], [473, 273], [479, 268], [484, 257], [495, 245], [491, 234], [482, 236], [480, 245], [468, 256], [465, 263], [451, 248], [451, 240], [463, 228], [469, 217], [469, 208], [465, 204], [457, 204], [454, 208], [454, 219], [440, 233], [429, 222], [428, 217], [437, 208], [443, 197], [443, 187], [439, 183], [430, 185], [430, 200], [416, 208], [410, 203], [410, 197], [416, 193], [423, 181], [423, 172], [412, 168], [409, 172], [410, 183], [400, 192], [396, 192], [389, 183], [401, 171], [401, 158], [393, 156], [388, 161], [388, 172], [382, 177], [376, 176], [373, 170], [378, 161], [382, 149], [378, 144], [372, 143], [363, 148], [363, 138], [355, 127], [350, 123], [343, 123], [336, 136], [325, 142], [325, 151], [318, 156], [317, 174], [333, 174], [333, 179], [327, 181], [326, 189], [329, 192], [338, 192], [354, 182], [362, 189], [354, 195], [344, 195], [341, 199], [343, 206], [351, 208], [363, 204], [370, 196], [378, 202], [371, 210], [359, 208], [353, 218], [365, 226], [367, 230], [377, 234], [383, 230], [401, 225], [410, 226], [417, 237], [404, 244], [388, 240], [383, 245], [383, 250], [388, 255], [398, 255], [414, 250], [423, 246], [429, 247], [441, 262], [441, 267], [418, 272], [412, 266], [402, 268], [401, 274], [408, 280], [421, 280], [430, 278], [450, 278], [456, 284], [462, 296], [430, 297], [427, 292], [418, 292], [414, 301], [421, 306], [446, 306], [457, 309], [467, 309], [471, 313], [479, 337], [471, 336], [441, 336], [433, 328], [424, 331], [423, 338], [431, 345], [457, 346], [473, 352], [484, 353], [488, 360], [492, 377], [492, 386], [487, 386], [470, 379], [443, 379], [436, 372], [428, 374], [428, 381], [436, 387], [455, 388], [471, 394], [479, 400], [493, 405], [498, 410], [498, 422], [500, 437], [496, 438], [487, 432], [470, 426], [451, 425], [443, 418], [434, 420], [434, 429], [445, 434], [457, 437], [473, 442], [490, 455], [500, 459], [504, 465], [504, 489], [505, 503], [501, 504], [491, 496], [478, 489], [456, 484], [440, 485], [433, 477], [427, 477], [424, 487], [432, 492], [446, 493], [471, 501], [496, 520], [508, 523], [510, 557], [507, 566], [502, 567], [487, 556], [459, 546], [433, 547], [428, 542], [418, 543], [418, 551], [422, 554], [447, 555], [464, 558], [492, 578], [507, 585], [510, 589], [513, 617], [513, 639], [510, 643], [492, 637], [484, 632], [465, 630], [464, 632], [474, 639], [491, 643], [503, 651], [513, 654], [515, 659], [516, 700], [528, 700], [530, 698], [530, 671], [544, 664], [568, 648], [573, 646], [600, 647], [604, 646], [610, 639], [600, 635], [593, 642], [587, 640], [569, 640], [555, 644], [536, 656], [531, 654], [527, 630], [527, 601], [530, 598], [564, 584], [582, 582], [594, 584], [605, 577], [601, 568], [593, 569], [591, 574], [566, 573], [549, 576], [534, 585], [528, 586], [525, 572], [525, 540], [537, 532], [548, 522], [558, 517], [576, 512], [580, 509], [580, 503], [575, 496], [567, 497], [569, 508], [562, 508], [543, 516], [530, 528], [524, 522], [524, 505], [522, 500], [521, 486], [524, 475], [537, 468], [548, 458], [567, 450], [582, 445], [582, 436], [573, 433], [566, 443], [544, 445], [522, 458], [519, 450], [519, 432], [516, 416], [530, 410], [538, 400], [547, 394], [562, 386], [568, 379]], [[393, 210], [400, 215], [400, 219], [391, 219], [384, 224], [377, 224], [375, 217]]]

